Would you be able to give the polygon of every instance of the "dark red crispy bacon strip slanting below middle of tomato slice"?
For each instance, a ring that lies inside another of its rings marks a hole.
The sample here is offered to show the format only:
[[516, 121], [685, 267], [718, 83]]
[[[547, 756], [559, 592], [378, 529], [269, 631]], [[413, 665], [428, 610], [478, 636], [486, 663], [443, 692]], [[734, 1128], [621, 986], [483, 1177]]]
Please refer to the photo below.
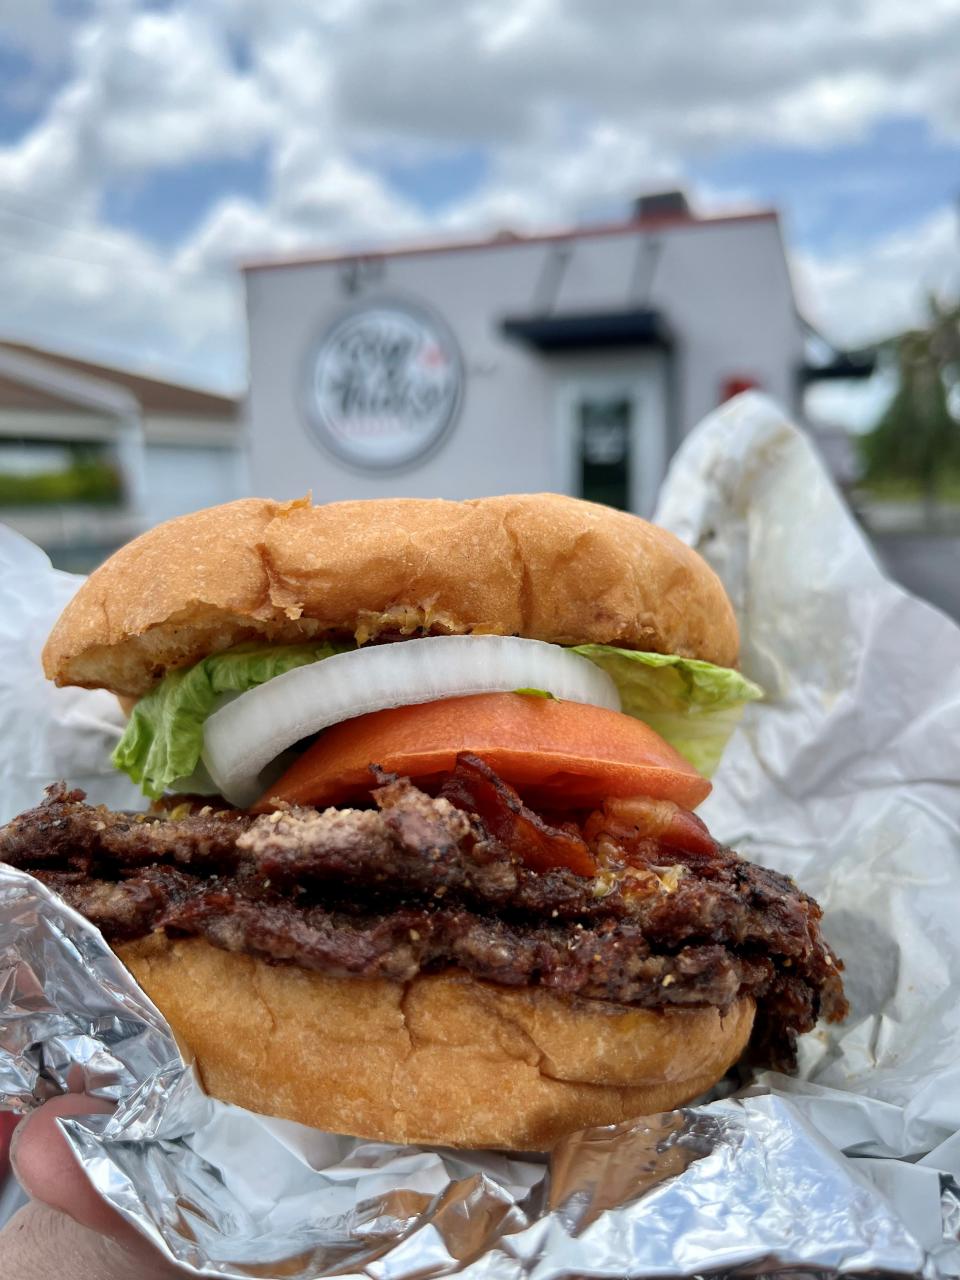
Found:
[[534, 870], [568, 867], [577, 876], [596, 874], [596, 859], [582, 837], [549, 827], [479, 756], [458, 755], [457, 767], [443, 783], [440, 795], [457, 809], [477, 814], [494, 840]]

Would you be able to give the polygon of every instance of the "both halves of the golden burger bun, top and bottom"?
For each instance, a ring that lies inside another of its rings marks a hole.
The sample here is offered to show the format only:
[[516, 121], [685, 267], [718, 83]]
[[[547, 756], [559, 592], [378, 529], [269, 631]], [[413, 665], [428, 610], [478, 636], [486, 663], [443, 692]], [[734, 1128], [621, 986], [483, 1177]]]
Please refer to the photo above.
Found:
[[[173, 520], [88, 579], [44, 663], [60, 685], [142, 696], [250, 641], [470, 632], [737, 657], [730, 602], [695, 552], [635, 516], [540, 494], [247, 499]], [[339, 978], [229, 945], [154, 933], [116, 950], [211, 1094], [361, 1138], [547, 1149], [701, 1093], [754, 1019], [749, 998], [721, 1014], [460, 970]]]

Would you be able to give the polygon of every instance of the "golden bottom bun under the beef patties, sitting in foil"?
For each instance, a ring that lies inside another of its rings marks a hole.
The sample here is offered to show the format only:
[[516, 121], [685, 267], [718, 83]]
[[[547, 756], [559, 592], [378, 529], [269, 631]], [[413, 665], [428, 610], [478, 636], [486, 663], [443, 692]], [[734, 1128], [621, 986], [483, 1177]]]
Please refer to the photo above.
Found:
[[333, 1133], [545, 1151], [668, 1111], [740, 1057], [754, 1002], [630, 1009], [447, 972], [332, 978], [163, 933], [118, 955], [209, 1093]]

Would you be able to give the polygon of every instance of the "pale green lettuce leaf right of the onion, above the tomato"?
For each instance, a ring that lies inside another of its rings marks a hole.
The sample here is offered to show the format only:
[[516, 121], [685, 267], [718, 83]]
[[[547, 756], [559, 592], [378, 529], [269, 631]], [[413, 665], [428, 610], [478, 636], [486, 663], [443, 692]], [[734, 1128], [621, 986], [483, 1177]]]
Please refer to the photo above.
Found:
[[575, 645], [573, 653], [605, 671], [627, 716], [649, 724], [705, 777], [719, 764], [746, 703], [763, 698], [763, 690], [739, 671], [699, 658], [605, 644]]

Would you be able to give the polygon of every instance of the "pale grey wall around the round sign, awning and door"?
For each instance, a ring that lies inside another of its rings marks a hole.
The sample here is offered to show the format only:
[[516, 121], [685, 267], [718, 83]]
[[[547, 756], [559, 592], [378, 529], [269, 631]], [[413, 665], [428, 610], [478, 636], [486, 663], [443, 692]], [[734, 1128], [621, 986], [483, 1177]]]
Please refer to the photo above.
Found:
[[[544, 289], [557, 253], [559, 287]], [[655, 260], [652, 288], [649, 266]], [[247, 403], [256, 492], [316, 500], [344, 497], [475, 497], [562, 489], [557, 384], [579, 367], [621, 369], [630, 353], [544, 357], [500, 333], [506, 316], [613, 311], [649, 305], [677, 337], [673, 421], [689, 430], [716, 407], [730, 376], [751, 376], [792, 404], [803, 358], [780, 230], [773, 219], [690, 224], [652, 233], [562, 242], [504, 242], [381, 260], [358, 293], [343, 264], [247, 273], [251, 392]], [[461, 413], [443, 445], [406, 471], [364, 472], [316, 443], [303, 412], [306, 366], [323, 332], [358, 302], [425, 305], [462, 351]]]

